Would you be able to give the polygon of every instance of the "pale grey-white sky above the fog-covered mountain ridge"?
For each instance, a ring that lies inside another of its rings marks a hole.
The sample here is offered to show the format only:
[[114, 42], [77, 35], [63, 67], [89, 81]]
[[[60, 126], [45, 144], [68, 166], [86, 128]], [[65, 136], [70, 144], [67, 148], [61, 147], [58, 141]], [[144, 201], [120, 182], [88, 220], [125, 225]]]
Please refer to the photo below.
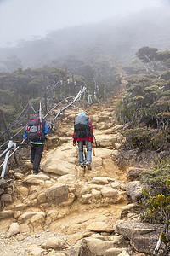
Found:
[[168, 0], [0, 0], [0, 47], [48, 32], [161, 7]]

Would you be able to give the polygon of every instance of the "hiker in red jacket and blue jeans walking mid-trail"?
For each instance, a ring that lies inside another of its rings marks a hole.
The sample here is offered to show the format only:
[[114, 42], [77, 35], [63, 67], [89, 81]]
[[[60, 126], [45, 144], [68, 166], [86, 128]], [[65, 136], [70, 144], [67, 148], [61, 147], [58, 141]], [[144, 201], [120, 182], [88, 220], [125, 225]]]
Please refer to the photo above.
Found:
[[[88, 119], [88, 116], [84, 112], [79, 113], [78, 116], [79, 117], [84, 116]], [[84, 167], [83, 145], [86, 145], [86, 148], [87, 148], [86, 166], [88, 166], [88, 170], [91, 170], [92, 169], [91, 167], [92, 143], [94, 140], [92, 122], [88, 119], [88, 129], [86, 129], [87, 134], [85, 134], [84, 137], [82, 137], [83, 135], [81, 135], [81, 132], [77, 131], [77, 128], [75, 127], [76, 125], [74, 126], [74, 133], [72, 135], [72, 138], [73, 138], [73, 145], [76, 143], [76, 141], [78, 143], [80, 166], [82, 168]], [[82, 134], [83, 134], [83, 131], [82, 131]]]

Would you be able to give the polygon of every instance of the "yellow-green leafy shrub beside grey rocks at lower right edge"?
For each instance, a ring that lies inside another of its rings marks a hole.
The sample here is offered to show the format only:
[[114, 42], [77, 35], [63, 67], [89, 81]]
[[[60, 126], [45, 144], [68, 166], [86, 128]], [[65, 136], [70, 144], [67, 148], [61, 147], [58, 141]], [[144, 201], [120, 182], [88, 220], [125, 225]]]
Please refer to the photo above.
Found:
[[[141, 172], [144, 183], [140, 217], [144, 222], [165, 223], [170, 213], [170, 159], [156, 160], [153, 170]], [[160, 211], [163, 211], [160, 213]], [[168, 213], [168, 214], [167, 214]], [[163, 214], [163, 215], [162, 215]]]

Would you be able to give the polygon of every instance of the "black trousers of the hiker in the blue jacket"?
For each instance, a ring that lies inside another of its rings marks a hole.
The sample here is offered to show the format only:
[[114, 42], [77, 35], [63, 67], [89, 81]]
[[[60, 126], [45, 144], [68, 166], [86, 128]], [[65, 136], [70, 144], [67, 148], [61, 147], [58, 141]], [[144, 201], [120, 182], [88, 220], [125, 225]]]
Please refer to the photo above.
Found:
[[38, 168], [42, 159], [43, 144], [31, 143], [31, 163], [33, 164], [33, 172], [38, 173]]

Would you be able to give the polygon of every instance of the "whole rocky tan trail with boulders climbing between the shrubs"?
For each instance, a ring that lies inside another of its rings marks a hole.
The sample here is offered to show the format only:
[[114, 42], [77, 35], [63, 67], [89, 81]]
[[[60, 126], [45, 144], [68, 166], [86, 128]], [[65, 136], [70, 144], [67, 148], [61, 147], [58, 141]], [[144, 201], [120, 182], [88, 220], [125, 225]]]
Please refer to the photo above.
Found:
[[[144, 255], [116, 232], [123, 214], [128, 219], [137, 217], [137, 205], [127, 206], [128, 170], [113, 160], [123, 141], [122, 125], [114, 118], [123, 93], [101, 105], [78, 102], [65, 110], [57, 130], [49, 135], [39, 174], [31, 174], [30, 149], [21, 149], [26, 155], [22, 167], [8, 171], [14, 188], [1, 196], [0, 255]], [[92, 170], [85, 171], [78, 166], [77, 148], [72, 144], [74, 119], [82, 106], [98, 143]]]

